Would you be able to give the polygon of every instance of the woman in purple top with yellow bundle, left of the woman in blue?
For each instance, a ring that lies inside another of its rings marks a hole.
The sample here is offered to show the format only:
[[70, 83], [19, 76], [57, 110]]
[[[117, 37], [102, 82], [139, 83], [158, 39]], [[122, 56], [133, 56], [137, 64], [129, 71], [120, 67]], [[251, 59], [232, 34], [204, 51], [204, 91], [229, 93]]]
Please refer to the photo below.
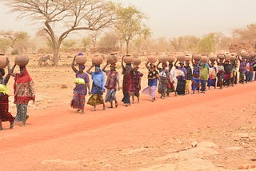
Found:
[[71, 64], [71, 68], [75, 73], [75, 87], [73, 89], [73, 99], [71, 101], [71, 107], [77, 109], [77, 113], [84, 113], [87, 89], [90, 94], [90, 80], [88, 74], [84, 72], [86, 66], [79, 65], [78, 70], [74, 67], [75, 58]]

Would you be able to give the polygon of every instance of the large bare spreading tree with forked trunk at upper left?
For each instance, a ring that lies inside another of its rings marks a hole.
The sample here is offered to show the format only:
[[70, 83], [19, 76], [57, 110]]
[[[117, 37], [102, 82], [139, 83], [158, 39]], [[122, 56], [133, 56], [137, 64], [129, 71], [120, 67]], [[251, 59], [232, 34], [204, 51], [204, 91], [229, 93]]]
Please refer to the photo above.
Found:
[[[103, 0], [2, 0], [21, 18], [42, 24], [51, 42], [54, 65], [62, 41], [78, 30], [102, 30], [114, 19], [113, 3]], [[60, 34], [58, 34], [58, 32]]]

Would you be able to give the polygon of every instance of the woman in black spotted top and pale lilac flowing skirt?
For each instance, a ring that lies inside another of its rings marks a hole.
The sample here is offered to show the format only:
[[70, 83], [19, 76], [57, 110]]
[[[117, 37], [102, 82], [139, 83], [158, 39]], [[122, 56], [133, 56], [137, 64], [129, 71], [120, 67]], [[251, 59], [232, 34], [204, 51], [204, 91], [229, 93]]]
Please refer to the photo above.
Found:
[[147, 87], [142, 90], [142, 93], [146, 93], [151, 97], [151, 101], [155, 101], [155, 91], [157, 89], [158, 81], [160, 81], [158, 71], [156, 70], [156, 66], [154, 64], [146, 63], [146, 68], [149, 70], [149, 74], [147, 76], [148, 82], [147, 82]]

